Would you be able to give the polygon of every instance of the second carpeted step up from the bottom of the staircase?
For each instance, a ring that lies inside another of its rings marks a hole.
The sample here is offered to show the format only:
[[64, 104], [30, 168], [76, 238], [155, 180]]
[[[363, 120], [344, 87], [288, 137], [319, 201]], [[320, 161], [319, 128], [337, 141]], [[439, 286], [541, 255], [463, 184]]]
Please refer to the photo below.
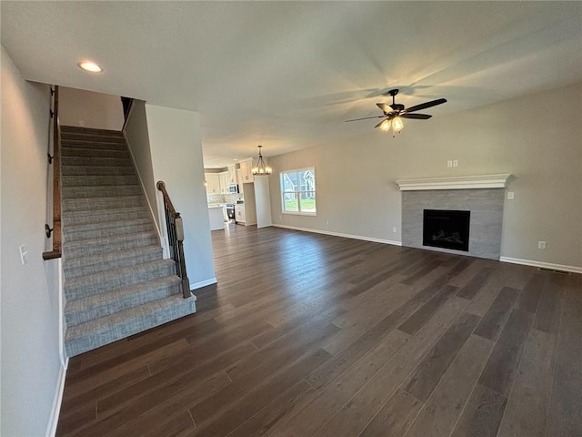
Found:
[[65, 305], [66, 326], [72, 327], [176, 294], [182, 294], [180, 279], [177, 276], [165, 276], [120, 290], [107, 291], [82, 299], [67, 300]]

